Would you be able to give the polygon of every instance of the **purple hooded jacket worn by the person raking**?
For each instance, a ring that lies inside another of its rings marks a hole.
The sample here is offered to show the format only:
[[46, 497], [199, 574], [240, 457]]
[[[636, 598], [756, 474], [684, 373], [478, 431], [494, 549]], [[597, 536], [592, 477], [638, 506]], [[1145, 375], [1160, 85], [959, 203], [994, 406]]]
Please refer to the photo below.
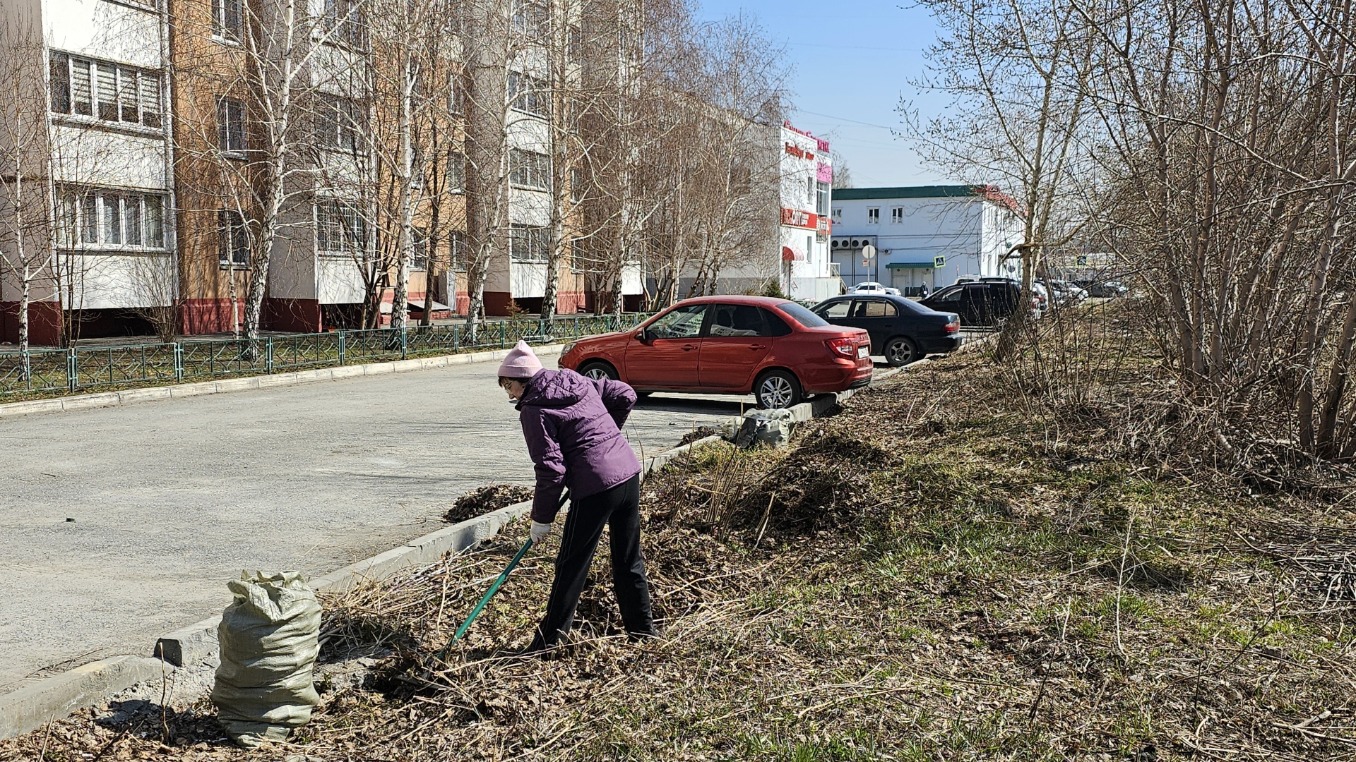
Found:
[[636, 392], [621, 381], [594, 381], [574, 370], [532, 377], [518, 401], [522, 435], [537, 466], [532, 521], [555, 521], [567, 485], [579, 499], [640, 473], [640, 461], [621, 435], [635, 404]]

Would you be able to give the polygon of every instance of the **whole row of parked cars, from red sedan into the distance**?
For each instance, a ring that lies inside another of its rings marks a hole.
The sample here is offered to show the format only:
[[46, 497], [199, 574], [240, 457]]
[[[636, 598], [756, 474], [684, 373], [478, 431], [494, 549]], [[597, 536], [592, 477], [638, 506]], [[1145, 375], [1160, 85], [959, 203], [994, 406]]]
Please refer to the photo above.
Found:
[[872, 355], [907, 365], [959, 348], [963, 324], [994, 325], [1018, 309], [1039, 315], [1051, 290], [1055, 298], [1088, 298], [1059, 296], [1071, 290], [1051, 286], [1024, 298], [1012, 279], [976, 278], [917, 301], [868, 287], [812, 306], [772, 297], [697, 297], [637, 328], [567, 344], [560, 367], [621, 380], [641, 395], [753, 393], [759, 407], [791, 407], [810, 395], [865, 386]]

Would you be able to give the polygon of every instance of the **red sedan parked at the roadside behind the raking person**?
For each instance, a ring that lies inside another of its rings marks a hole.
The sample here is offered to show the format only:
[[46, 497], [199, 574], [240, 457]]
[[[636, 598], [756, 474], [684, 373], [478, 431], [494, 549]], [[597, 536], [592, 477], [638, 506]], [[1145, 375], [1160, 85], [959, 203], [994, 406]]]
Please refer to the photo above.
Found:
[[784, 408], [865, 386], [869, 355], [861, 328], [830, 325], [793, 301], [730, 296], [685, 300], [639, 328], [580, 339], [560, 367], [637, 392], [753, 392], [759, 407]]

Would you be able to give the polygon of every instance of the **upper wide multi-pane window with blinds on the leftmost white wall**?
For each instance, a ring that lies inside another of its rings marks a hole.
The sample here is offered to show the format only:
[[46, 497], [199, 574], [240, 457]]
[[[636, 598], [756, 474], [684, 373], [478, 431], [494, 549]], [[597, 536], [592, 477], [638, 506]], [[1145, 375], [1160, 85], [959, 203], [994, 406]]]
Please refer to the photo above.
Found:
[[53, 53], [52, 111], [104, 122], [161, 126], [160, 73]]

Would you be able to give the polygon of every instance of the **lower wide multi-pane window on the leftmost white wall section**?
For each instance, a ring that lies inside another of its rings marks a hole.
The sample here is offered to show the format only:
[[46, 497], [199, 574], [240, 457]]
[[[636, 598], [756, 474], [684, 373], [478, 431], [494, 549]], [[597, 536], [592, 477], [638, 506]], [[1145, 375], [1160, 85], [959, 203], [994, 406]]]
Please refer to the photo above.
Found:
[[164, 197], [119, 190], [57, 191], [57, 244], [164, 249]]

